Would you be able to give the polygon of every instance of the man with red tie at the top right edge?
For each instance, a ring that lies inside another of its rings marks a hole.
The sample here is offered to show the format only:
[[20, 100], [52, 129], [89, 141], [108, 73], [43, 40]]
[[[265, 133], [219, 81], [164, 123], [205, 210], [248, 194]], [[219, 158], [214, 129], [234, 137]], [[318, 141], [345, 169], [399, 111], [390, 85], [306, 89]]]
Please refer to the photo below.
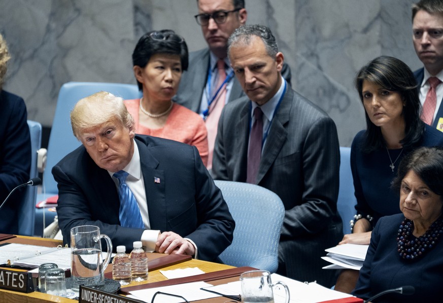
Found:
[[422, 0], [412, 6], [414, 48], [424, 67], [414, 72], [422, 120], [443, 131], [443, 2]]

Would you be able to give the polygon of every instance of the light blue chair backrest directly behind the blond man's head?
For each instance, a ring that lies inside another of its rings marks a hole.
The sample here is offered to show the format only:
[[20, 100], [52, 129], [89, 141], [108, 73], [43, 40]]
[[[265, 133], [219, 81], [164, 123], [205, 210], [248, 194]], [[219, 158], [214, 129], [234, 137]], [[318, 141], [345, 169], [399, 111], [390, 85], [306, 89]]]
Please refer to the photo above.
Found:
[[68, 82], [63, 84], [58, 93], [51, 134], [48, 143], [46, 169], [43, 174], [43, 185], [46, 197], [57, 195], [57, 183], [51, 170], [64, 156], [72, 152], [80, 141], [73, 135], [70, 113], [78, 100], [99, 91], [110, 92], [123, 99], [136, 99], [142, 96], [137, 85], [99, 82]]

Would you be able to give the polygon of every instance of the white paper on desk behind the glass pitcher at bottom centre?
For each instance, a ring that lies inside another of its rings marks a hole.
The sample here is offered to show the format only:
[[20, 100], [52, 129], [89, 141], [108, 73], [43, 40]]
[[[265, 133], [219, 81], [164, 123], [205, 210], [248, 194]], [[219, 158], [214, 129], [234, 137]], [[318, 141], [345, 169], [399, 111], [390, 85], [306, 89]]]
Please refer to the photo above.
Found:
[[[352, 297], [350, 294], [323, 287], [315, 282], [303, 283], [278, 274], [272, 274], [271, 279], [272, 283], [282, 281], [288, 285], [290, 294], [289, 301], [291, 303], [315, 303], [326, 300]], [[240, 281], [235, 281], [227, 284], [208, 287], [208, 289], [228, 295], [239, 295], [242, 292], [242, 285]], [[274, 301], [275, 303], [285, 302], [285, 290], [283, 287], [277, 286], [277, 289], [274, 288]]]

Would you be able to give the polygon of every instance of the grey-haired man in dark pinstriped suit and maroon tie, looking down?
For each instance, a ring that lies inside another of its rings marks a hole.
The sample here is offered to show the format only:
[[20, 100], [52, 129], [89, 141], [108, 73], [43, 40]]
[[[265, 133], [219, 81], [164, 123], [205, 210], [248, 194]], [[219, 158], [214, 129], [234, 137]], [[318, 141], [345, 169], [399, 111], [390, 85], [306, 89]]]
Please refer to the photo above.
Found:
[[275, 192], [286, 210], [278, 273], [331, 286], [334, 271], [322, 270], [326, 262], [321, 256], [343, 236], [336, 209], [340, 159], [335, 124], [283, 79], [284, 56], [269, 28], [236, 29], [228, 54], [247, 96], [223, 109], [214, 177]]

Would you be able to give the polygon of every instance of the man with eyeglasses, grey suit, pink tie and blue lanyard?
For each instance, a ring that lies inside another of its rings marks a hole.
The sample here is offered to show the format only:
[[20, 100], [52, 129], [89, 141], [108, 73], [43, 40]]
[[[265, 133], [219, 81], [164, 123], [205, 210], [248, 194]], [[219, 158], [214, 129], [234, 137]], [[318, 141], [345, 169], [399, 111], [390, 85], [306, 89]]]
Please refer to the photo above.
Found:
[[[197, 24], [208, 48], [189, 54], [188, 70], [183, 72], [174, 101], [197, 112], [208, 129], [208, 165], [212, 168], [217, 125], [223, 106], [244, 96], [227, 58], [227, 41], [231, 33], [247, 19], [244, 0], [197, 0]], [[284, 65], [283, 77], [291, 83], [291, 71]]]

